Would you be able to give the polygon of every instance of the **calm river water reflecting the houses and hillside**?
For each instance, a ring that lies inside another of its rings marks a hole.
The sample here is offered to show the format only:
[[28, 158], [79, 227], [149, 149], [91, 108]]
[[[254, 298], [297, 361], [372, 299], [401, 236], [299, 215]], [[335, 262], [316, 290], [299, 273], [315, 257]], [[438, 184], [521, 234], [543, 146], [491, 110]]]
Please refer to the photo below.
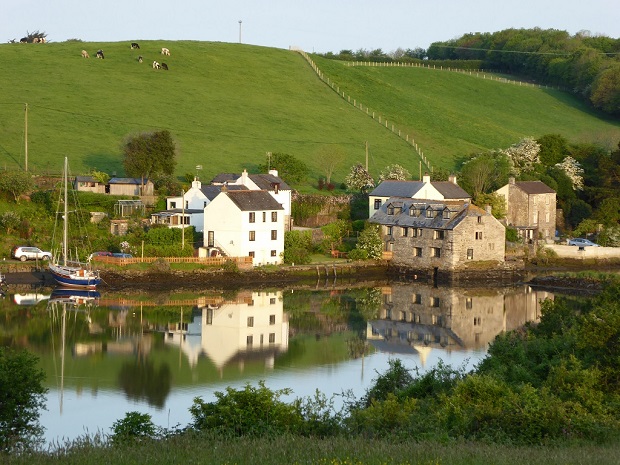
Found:
[[473, 368], [489, 342], [553, 298], [528, 286], [420, 284], [238, 293], [9, 292], [0, 342], [37, 354], [47, 375], [45, 439], [109, 433], [126, 412], [191, 422], [195, 397], [226, 387], [316, 389], [359, 398], [390, 358], [420, 370]]

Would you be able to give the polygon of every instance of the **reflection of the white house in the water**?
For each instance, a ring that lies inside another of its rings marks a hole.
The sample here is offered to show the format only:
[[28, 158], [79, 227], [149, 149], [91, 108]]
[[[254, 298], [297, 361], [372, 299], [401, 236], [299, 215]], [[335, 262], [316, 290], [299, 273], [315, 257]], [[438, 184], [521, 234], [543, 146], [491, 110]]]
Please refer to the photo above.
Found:
[[192, 366], [206, 355], [220, 373], [234, 363], [243, 371], [250, 360], [273, 368], [277, 354], [288, 349], [282, 291], [241, 291], [199, 308], [199, 316], [182, 329], [169, 331], [166, 343], [179, 345]]

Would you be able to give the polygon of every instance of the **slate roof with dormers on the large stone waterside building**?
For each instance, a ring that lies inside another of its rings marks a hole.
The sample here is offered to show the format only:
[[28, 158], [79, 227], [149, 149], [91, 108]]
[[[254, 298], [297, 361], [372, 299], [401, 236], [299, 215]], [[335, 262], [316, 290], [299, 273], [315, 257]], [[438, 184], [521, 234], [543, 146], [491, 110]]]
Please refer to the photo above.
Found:
[[[401, 208], [400, 213], [389, 215], [388, 209]], [[411, 210], [415, 214], [410, 214]], [[426, 216], [432, 210], [431, 218]], [[449, 212], [449, 218], [444, 218], [444, 211]], [[386, 226], [402, 226], [427, 229], [454, 229], [468, 216], [485, 216], [488, 213], [480, 207], [469, 203], [424, 201], [391, 197], [370, 218], [371, 223]]]

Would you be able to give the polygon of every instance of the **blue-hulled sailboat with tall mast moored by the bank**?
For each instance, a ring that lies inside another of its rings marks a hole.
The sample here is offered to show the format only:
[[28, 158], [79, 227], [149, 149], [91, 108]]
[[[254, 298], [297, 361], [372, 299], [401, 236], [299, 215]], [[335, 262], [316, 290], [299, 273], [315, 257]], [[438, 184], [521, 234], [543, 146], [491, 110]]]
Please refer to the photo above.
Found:
[[65, 157], [63, 173], [64, 182], [64, 212], [62, 249], [60, 255], [56, 254], [53, 262], [49, 265], [50, 273], [60, 286], [77, 289], [95, 289], [101, 282], [99, 270], [93, 270], [90, 265], [84, 265], [79, 261], [69, 261], [68, 259], [68, 235], [69, 235], [69, 202], [68, 202], [68, 177], [69, 163]]

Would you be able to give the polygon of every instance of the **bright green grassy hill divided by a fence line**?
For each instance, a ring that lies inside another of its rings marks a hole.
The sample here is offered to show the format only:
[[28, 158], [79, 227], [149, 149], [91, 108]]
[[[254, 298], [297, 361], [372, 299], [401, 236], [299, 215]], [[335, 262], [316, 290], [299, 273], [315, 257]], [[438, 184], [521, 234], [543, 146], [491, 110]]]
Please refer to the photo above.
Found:
[[[321, 82], [296, 52], [213, 42], [129, 42], [0, 45], [0, 163], [24, 166], [28, 104], [28, 167], [74, 174], [95, 168], [123, 174], [122, 143], [132, 134], [168, 129], [179, 148], [177, 175], [255, 171], [266, 152], [284, 152], [323, 173], [318, 154], [339, 147], [371, 174], [399, 163], [417, 175], [419, 157], [403, 137], [353, 107]], [[171, 56], [162, 57], [162, 46]], [[97, 49], [106, 58], [95, 59]], [[91, 58], [81, 58], [81, 50]], [[144, 63], [138, 63], [142, 55]], [[560, 133], [569, 140], [620, 139], [605, 121], [566, 94], [419, 68], [346, 67], [315, 58], [352, 99], [376, 109], [415, 136], [433, 166], [454, 168], [474, 150], [507, 147], [525, 136]], [[156, 71], [153, 60], [170, 70]], [[300, 186], [303, 188], [303, 186]], [[305, 187], [304, 190], [307, 190]]]

